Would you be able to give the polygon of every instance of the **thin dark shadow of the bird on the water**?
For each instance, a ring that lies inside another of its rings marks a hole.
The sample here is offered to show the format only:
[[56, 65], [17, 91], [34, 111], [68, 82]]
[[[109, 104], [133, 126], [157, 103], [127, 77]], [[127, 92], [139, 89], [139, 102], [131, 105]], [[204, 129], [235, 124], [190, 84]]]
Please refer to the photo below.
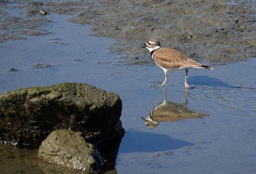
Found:
[[241, 88], [241, 87], [229, 85], [228, 83], [222, 82], [218, 78], [212, 78], [209, 76], [190, 76], [188, 79], [188, 83], [191, 84], [191, 87], [193, 88], [202, 87], [202, 86]]

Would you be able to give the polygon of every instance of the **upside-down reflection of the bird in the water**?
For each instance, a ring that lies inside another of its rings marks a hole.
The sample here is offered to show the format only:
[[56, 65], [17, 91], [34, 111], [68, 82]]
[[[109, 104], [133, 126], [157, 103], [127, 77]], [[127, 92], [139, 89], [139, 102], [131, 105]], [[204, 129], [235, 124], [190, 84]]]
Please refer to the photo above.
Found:
[[199, 119], [204, 117], [204, 114], [202, 113], [196, 113], [189, 110], [189, 108], [186, 107], [186, 104], [167, 101], [165, 89], [164, 93], [164, 101], [154, 106], [147, 118], [141, 117], [141, 119], [145, 120], [145, 125], [147, 127], [156, 128], [159, 122], [177, 122], [183, 119]]

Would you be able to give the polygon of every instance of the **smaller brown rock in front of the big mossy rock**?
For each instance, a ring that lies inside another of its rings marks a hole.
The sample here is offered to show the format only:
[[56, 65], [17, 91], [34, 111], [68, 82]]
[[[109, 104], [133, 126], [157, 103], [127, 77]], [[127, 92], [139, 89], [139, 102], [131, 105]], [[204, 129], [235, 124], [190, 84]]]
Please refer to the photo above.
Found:
[[98, 170], [106, 161], [81, 133], [65, 129], [53, 131], [42, 142], [38, 157], [48, 163], [75, 170]]

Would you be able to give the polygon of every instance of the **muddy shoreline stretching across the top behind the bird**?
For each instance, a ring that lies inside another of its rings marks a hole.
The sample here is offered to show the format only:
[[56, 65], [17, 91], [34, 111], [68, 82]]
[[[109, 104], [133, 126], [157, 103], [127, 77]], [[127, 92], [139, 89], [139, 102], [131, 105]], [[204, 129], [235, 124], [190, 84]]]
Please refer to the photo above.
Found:
[[[70, 15], [92, 25], [91, 34], [116, 41], [109, 51], [118, 64], [148, 65], [149, 38], [196, 61], [227, 64], [256, 55], [255, 1], [0, 1], [0, 42], [48, 34], [52, 22], [39, 11]], [[13, 10], [16, 11], [13, 13]]]

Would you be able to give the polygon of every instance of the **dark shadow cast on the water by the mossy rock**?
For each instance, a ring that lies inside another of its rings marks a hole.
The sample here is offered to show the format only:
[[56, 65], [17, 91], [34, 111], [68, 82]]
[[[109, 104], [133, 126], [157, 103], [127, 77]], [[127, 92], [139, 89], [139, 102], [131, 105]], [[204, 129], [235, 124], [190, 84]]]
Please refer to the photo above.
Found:
[[120, 145], [119, 153], [159, 152], [192, 146], [193, 143], [174, 140], [166, 134], [127, 131]]

